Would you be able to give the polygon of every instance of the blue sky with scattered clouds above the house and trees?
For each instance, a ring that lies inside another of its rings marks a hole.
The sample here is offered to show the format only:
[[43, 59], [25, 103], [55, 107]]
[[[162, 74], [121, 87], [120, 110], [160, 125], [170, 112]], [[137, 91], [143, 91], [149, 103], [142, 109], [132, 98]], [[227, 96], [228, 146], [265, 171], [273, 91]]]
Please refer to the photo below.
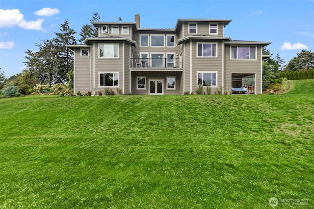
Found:
[[[232, 19], [225, 36], [272, 42], [267, 48], [286, 61], [314, 51], [314, 0], [0, 0], [0, 68], [9, 77], [26, 69], [27, 49], [52, 39], [66, 19], [77, 31], [98, 12], [101, 21], [174, 28], [177, 19]], [[273, 56], [274, 56], [273, 55]]]

